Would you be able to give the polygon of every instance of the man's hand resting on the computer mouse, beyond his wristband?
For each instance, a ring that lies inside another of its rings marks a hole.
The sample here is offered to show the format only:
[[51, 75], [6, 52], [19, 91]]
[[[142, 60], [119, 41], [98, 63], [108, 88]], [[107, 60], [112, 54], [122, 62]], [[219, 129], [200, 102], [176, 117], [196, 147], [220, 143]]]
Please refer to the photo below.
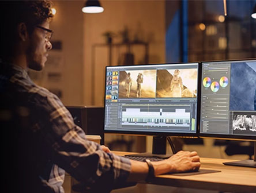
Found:
[[170, 164], [170, 172], [198, 171], [201, 166], [197, 152], [179, 151], [167, 159]]

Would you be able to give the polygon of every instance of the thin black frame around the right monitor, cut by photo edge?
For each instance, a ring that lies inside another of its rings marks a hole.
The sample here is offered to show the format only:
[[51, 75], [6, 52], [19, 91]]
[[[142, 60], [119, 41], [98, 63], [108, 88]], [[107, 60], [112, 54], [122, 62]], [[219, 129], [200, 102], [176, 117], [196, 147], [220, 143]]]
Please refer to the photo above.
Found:
[[[256, 58], [250, 58], [250, 59], [231, 59], [231, 60], [212, 60], [212, 61], [201, 61], [201, 71], [202, 71], [202, 65], [204, 63], [216, 63], [216, 62], [232, 62], [232, 61], [250, 61], [250, 60], [255, 60]], [[202, 72], [201, 72], [201, 80], [202, 80]], [[202, 86], [202, 82], [200, 83]], [[200, 86], [200, 88], [201, 88]], [[201, 95], [200, 93], [200, 100], [201, 100]], [[201, 110], [201, 101], [200, 101], [200, 110]], [[199, 114], [199, 128], [198, 128], [198, 137], [200, 138], [215, 138], [215, 139], [222, 139], [222, 140], [246, 140], [246, 141], [256, 141], [256, 136], [236, 136], [236, 135], [225, 135], [225, 134], [213, 134], [213, 133], [201, 133], [201, 111]]]

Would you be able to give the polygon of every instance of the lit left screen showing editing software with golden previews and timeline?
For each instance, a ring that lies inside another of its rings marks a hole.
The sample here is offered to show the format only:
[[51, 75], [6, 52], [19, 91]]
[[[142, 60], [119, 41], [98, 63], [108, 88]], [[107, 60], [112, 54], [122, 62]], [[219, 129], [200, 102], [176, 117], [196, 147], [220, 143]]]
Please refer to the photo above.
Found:
[[198, 63], [106, 68], [104, 130], [196, 133]]

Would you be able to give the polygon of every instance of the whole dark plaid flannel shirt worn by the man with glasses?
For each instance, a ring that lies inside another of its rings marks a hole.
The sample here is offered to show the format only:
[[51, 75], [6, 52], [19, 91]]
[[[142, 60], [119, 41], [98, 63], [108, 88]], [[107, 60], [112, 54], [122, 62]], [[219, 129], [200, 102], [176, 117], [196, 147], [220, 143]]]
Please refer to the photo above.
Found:
[[65, 171], [80, 182], [80, 191], [110, 191], [125, 182], [130, 161], [86, 140], [56, 95], [33, 83], [23, 68], [11, 66], [9, 76], [0, 76], [0, 88], [4, 94], [10, 92], [15, 111], [23, 120], [15, 131], [19, 133], [16, 145], [22, 163], [17, 169], [24, 168], [24, 180], [22, 173], [18, 179], [21, 187], [27, 192], [64, 192]]

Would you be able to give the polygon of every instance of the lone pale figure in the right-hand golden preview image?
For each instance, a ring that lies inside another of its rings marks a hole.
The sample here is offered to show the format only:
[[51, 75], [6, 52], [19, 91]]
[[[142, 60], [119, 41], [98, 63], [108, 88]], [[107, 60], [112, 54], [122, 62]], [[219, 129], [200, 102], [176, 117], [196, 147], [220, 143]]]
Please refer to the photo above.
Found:
[[171, 81], [170, 91], [172, 92], [172, 97], [182, 96], [183, 83], [182, 83], [182, 78], [179, 76], [179, 72], [180, 71], [178, 69], [174, 71], [174, 77], [172, 78], [172, 81]]

